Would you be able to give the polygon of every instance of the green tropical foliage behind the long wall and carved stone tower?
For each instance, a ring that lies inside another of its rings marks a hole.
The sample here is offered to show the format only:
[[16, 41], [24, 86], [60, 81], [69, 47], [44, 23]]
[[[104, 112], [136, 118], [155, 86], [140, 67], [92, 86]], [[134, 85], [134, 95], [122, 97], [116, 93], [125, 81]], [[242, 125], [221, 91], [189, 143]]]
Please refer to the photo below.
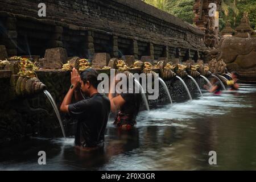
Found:
[[[195, 0], [142, 0], [160, 10], [175, 15], [188, 23], [193, 23], [193, 5]], [[255, 0], [222, 0], [220, 10], [220, 30], [225, 22], [230, 20], [233, 28], [238, 26], [243, 12], [249, 13], [251, 27], [256, 28], [256, 1]]]

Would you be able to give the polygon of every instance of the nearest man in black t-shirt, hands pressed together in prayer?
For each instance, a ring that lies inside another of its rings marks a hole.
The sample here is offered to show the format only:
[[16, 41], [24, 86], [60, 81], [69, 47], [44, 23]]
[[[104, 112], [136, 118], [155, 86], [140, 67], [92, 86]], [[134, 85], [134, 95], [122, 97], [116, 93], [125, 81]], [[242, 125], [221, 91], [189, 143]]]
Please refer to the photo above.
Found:
[[[104, 133], [110, 113], [110, 101], [104, 94], [98, 93], [98, 73], [86, 69], [79, 73], [75, 68], [71, 72], [71, 87], [65, 96], [60, 110], [70, 113], [77, 119], [75, 145], [81, 150], [104, 146]], [[82, 93], [89, 97], [84, 99]], [[71, 104], [75, 93], [76, 103]]]

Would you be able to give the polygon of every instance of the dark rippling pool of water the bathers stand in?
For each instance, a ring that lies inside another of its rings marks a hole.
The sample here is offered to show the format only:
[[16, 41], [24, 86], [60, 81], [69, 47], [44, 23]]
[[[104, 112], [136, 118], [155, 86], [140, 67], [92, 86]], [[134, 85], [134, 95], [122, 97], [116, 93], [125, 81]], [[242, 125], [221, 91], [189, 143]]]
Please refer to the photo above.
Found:
[[[1, 170], [256, 170], [256, 86], [204, 93], [138, 116], [132, 131], [109, 121], [102, 151], [75, 150], [72, 137], [31, 138], [1, 148]], [[47, 165], [39, 166], [38, 152]], [[217, 152], [210, 166], [209, 151]]]

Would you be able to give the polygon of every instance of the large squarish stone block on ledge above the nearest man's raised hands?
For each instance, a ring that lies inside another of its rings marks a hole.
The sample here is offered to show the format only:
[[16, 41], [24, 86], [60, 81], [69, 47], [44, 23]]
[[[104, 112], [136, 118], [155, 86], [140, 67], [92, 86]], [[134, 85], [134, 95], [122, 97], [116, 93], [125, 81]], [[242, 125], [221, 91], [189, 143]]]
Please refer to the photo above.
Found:
[[68, 60], [67, 50], [64, 48], [46, 49], [44, 55], [43, 68], [44, 69], [61, 69], [63, 64]]

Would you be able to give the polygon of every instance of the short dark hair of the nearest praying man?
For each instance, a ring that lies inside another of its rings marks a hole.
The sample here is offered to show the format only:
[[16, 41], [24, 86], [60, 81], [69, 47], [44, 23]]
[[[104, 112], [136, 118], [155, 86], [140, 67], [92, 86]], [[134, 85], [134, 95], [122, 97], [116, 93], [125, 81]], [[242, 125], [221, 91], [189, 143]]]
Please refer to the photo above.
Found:
[[96, 89], [98, 88], [98, 84], [100, 84], [100, 81], [98, 81], [98, 72], [95, 69], [85, 69], [85, 71], [81, 72], [80, 77], [84, 84], [86, 81], [89, 81], [90, 84]]

